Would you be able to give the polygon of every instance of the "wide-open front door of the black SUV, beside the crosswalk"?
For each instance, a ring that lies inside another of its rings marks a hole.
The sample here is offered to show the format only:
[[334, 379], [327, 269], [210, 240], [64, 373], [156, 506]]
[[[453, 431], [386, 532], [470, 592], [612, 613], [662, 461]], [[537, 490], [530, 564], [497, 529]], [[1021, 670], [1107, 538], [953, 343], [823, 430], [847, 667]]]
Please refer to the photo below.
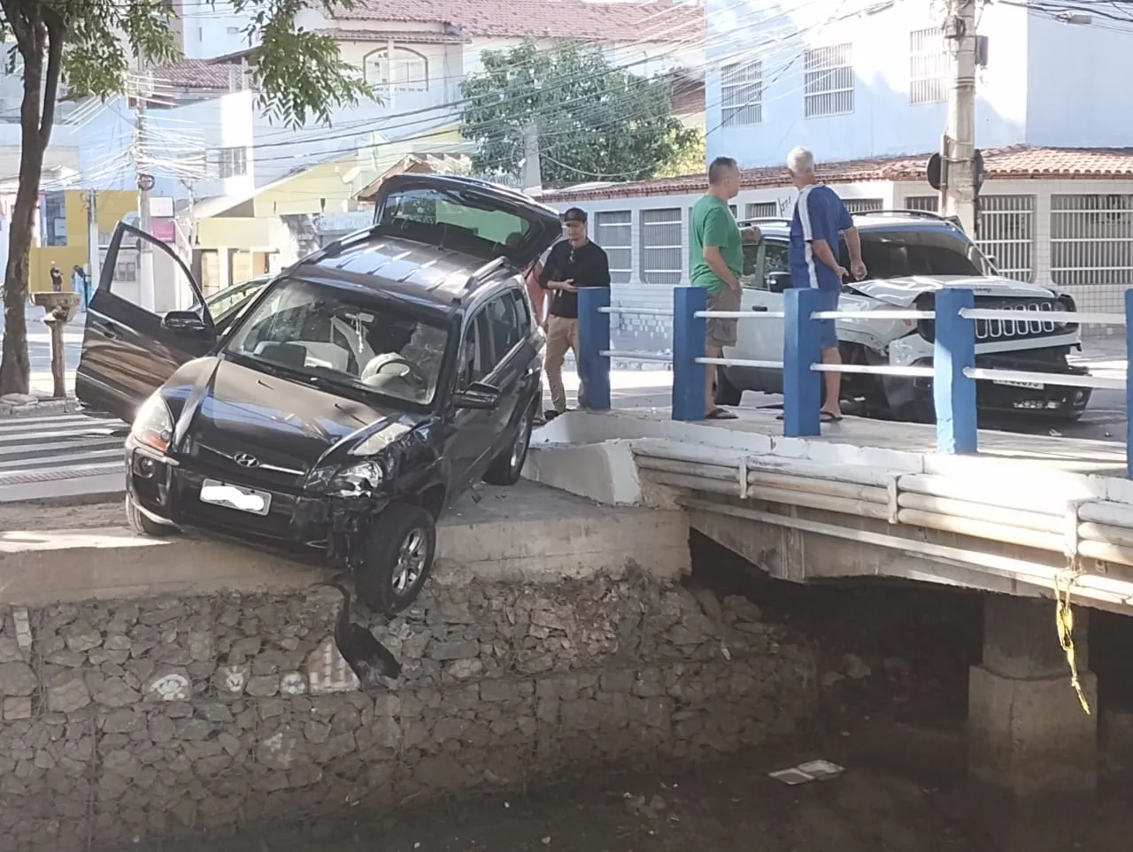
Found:
[[[142, 292], [143, 245], [153, 256], [152, 296]], [[90, 409], [133, 423], [150, 394], [215, 342], [201, 287], [181, 258], [161, 240], [120, 222], [87, 308], [75, 395]]]

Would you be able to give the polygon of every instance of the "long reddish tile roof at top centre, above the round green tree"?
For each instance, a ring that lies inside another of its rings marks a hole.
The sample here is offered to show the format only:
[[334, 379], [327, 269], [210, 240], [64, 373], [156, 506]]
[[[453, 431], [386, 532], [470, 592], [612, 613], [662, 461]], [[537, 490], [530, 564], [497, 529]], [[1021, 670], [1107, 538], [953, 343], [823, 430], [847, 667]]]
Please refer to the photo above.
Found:
[[603, 42], [704, 41], [701, 6], [672, 0], [358, 0], [339, 20], [437, 23], [485, 37], [585, 39]]

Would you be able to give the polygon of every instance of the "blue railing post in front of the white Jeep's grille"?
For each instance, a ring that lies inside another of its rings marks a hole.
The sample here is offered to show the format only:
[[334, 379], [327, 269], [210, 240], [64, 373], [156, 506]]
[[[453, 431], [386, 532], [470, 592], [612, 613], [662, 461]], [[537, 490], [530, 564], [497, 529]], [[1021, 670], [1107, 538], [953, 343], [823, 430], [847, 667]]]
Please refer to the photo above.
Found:
[[976, 366], [976, 323], [960, 315], [976, 307], [976, 295], [962, 288], [936, 293], [936, 343], [932, 348], [932, 401], [936, 406], [936, 451], [973, 453], [979, 449], [976, 380], [964, 369]]

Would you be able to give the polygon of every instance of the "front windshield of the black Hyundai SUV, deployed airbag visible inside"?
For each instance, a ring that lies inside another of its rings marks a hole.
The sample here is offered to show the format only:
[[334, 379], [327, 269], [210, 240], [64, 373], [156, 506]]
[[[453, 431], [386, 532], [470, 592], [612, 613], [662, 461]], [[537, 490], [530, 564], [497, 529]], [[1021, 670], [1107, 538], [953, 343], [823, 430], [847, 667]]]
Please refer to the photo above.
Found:
[[347, 395], [380, 393], [428, 406], [449, 334], [353, 289], [283, 279], [223, 351]]

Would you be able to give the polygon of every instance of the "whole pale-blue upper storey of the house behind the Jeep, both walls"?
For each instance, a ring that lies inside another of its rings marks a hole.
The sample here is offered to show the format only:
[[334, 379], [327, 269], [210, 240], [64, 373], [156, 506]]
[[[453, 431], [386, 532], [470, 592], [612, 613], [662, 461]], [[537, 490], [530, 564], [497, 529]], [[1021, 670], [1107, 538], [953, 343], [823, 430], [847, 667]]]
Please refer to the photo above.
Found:
[[[1056, 5], [981, 2], [976, 144], [1114, 147], [1133, 138], [1133, 24]], [[824, 161], [939, 148], [944, 3], [706, 0], [708, 155], [747, 168], [793, 145]], [[1076, 7], [1075, 7], [1076, 9]]]

